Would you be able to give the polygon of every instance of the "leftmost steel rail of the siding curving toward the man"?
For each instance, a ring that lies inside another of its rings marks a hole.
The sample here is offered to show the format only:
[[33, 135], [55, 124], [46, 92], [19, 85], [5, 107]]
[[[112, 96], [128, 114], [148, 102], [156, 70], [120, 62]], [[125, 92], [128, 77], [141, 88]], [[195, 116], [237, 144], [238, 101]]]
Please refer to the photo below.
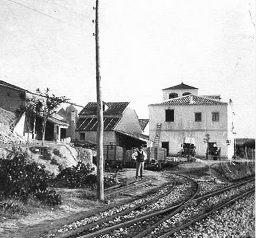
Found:
[[[168, 185], [168, 184], [166, 183], [163, 186], [166, 186], [166, 185]], [[161, 187], [163, 187], [163, 186], [161, 186]], [[138, 209], [143, 209], [144, 207], [149, 206], [150, 204], [153, 204], [156, 200], [159, 200], [163, 196], [166, 196], [169, 193], [171, 193], [175, 186], [176, 186], [176, 183], [173, 183], [171, 188], [169, 188], [169, 190], [166, 193], [164, 193], [162, 195], [159, 195], [157, 198], [150, 199], [147, 202], [144, 202], [143, 204], [138, 204], [137, 206], [130, 207], [128, 209], [125, 209], [124, 211], [121, 211], [120, 213], [113, 214], [113, 215], [108, 216], [106, 218], [103, 218], [103, 219], [101, 219], [99, 221], [88, 223], [88, 224], [86, 224], [86, 225], [84, 225], [82, 227], [76, 228], [76, 230], [71, 230], [69, 232], [66, 232], [66, 234], [58, 235], [57, 237], [59, 237], [59, 238], [68, 238], [68, 237], [71, 237], [72, 235], [80, 234], [82, 232], [85, 232], [85, 230], [90, 230], [91, 228], [96, 227], [97, 225], [102, 225], [103, 223], [106, 223], [108, 221], [112, 221], [113, 219], [115, 219], [118, 216], [124, 216], [125, 214], [129, 214], [132, 211], [136, 211]]]

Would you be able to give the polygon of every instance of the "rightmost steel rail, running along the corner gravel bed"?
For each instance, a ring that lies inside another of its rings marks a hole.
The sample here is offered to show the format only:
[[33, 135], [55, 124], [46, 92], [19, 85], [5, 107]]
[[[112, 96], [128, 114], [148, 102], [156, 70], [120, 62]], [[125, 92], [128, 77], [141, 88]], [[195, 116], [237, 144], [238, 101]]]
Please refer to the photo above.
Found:
[[251, 190], [249, 190], [248, 192], [246, 193], [242, 193], [240, 195], [238, 195], [237, 197], [234, 197], [233, 199], [227, 201], [227, 202], [224, 202], [218, 206], [215, 206], [213, 207], [213, 209], [211, 209], [210, 211], [207, 211], [206, 213], [203, 213], [199, 216], [197, 216], [197, 218], [194, 218], [193, 220], [191, 221], [188, 221], [187, 223], [184, 223], [183, 225], [180, 225], [179, 227], [176, 227], [174, 228], [173, 230], [171, 230], [170, 232], [167, 232], [166, 234], [164, 235], [161, 235], [159, 238], [165, 238], [165, 237], [169, 237], [171, 235], [173, 235], [174, 233], [180, 231], [180, 230], [183, 230], [184, 228], [186, 227], [189, 227], [190, 225], [192, 225], [193, 223], [197, 222], [197, 221], [201, 221], [203, 220], [203, 218], [206, 218], [208, 215], [210, 215], [211, 213], [217, 211], [217, 210], [220, 210], [222, 209], [223, 207], [226, 207], [228, 206], [229, 204], [232, 204], [233, 202], [236, 202], [236, 200], [239, 200], [241, 199], [242, 197], [245, 197], [246, 195], [249, 195], [250, 193], [253, 193], [255, 192], [255, 188], [252, 188]]

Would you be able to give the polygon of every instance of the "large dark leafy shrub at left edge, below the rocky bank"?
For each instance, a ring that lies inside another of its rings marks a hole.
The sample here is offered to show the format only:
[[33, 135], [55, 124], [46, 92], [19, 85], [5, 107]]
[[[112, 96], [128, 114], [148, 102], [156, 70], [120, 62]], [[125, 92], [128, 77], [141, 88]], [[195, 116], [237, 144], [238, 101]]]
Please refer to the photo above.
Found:
[[36, 163], [27, 164], [25, 153], [16, 151], [11, 159], [0, 159], [0, 198], [14, 197], [26, 202], [32, 195], [47, 204], [60, 204], [60, 196], [47, 190], [51, 176]]

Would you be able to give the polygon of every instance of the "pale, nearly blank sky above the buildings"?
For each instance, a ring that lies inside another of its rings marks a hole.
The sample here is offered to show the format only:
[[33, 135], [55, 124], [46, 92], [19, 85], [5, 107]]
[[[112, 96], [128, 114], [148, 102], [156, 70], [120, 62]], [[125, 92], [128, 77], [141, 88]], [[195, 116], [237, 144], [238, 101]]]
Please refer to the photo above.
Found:
[[[96, 102], [92, 0], [1, 0], [0, 80]], [[181, 82], [232, 99], [236, 137], [255, 137], [255, 2], [99, 0], [103, 101], [139, 118]]]

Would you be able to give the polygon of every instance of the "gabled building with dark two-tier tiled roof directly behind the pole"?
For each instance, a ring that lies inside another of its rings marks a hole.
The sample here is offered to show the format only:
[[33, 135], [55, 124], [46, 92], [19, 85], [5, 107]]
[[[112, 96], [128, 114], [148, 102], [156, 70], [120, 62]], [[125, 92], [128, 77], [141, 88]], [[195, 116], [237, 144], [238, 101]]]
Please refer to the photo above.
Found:
[[[150, 144], [143, 134], [147, 121], [139, 121], [130, 102], [103, 102], [103, 144], [115, 144], [127, 150], [142, 144]], [[97, 142], [97, 102], [89, 102], [78, 114], [76, 141]]]

